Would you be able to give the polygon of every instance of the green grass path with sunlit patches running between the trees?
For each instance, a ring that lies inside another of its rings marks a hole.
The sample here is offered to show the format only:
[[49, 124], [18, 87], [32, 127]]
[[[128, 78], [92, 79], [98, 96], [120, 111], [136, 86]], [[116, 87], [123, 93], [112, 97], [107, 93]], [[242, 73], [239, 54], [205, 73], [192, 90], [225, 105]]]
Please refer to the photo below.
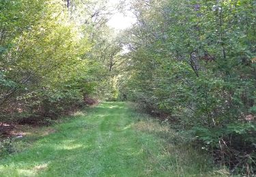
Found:
[[207, 156], [174, 146], [167, 141], [174, 131], [126, 103], [102, 103], [50, 129], [46, 135], [33, 135], [35, 142], [22, 152], [3, 157], [0, 176], [216, 174]]

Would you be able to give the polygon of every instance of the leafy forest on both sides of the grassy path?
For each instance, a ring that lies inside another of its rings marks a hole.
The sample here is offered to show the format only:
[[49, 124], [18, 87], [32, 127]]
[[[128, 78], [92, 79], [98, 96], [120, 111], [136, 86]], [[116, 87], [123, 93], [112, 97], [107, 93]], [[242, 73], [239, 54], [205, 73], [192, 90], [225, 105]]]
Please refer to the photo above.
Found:
[[[127, 10], [136, 22], [109, 27]], [[102, 102], [135, 105], [227, 176], [255, 176], [256, 1], [0, 0], [0, 173], [16, 125]]]

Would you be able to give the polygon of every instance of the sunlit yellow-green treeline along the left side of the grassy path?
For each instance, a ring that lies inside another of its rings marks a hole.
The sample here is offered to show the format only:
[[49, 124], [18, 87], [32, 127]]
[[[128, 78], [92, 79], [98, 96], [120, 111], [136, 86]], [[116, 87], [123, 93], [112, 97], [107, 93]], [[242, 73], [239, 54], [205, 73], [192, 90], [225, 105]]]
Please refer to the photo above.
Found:
[[0, 1], [0, 125], [56, 117], [109, 93], [103, 7], [92, 0]]

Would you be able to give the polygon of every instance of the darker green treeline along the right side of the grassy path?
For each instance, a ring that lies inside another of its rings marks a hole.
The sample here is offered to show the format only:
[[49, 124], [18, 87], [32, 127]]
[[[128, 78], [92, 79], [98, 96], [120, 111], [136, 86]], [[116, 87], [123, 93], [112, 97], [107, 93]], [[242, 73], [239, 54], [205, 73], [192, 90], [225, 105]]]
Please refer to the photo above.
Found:
[[134, 1], [122, 95], [234, 174], [256, 174], [256, 2]]

